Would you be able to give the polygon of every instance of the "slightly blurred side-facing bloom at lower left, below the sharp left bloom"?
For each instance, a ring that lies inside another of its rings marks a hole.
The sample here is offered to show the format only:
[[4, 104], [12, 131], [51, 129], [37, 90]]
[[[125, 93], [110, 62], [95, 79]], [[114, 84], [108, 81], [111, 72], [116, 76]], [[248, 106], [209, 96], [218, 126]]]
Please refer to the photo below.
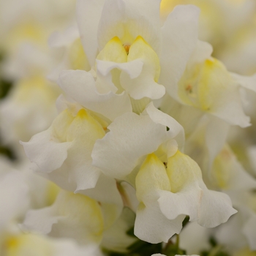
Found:
[[73, 238], [81, 245], [98, 244], [104, 217], [96, 200], [61, 191], [52, 206], [28, 211], [22, 227], [52, 237]]

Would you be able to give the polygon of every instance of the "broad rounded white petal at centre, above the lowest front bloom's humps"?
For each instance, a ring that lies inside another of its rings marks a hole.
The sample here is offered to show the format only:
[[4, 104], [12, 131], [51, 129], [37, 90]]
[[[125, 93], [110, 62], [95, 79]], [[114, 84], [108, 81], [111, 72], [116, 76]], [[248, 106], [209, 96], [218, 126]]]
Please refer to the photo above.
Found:
[[138, 159], [156, 151], [166, 138], [165, 126], [135, 113], [119, 116], [108, 129], [110, 132], [95, 143], [91, 157], [93, 165], [115, 178], [131, 173]]

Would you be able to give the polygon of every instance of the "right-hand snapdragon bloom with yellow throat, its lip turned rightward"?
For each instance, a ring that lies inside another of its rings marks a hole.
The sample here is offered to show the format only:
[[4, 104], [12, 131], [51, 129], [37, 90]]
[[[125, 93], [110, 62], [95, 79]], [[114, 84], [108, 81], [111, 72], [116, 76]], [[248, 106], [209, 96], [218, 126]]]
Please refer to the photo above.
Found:
[[228, 124], [247, 127], [249, 117], [242, 108], [239, 85], [255, 90], [254, 79], [230, 74], [220, 61], [211, 57], [211, 50], [210, 45], [199, 41], [180, 80], [167, 83], [176, 75], [168, 73], [164, 83], [167, 91], [183, 105], [216, 116]]

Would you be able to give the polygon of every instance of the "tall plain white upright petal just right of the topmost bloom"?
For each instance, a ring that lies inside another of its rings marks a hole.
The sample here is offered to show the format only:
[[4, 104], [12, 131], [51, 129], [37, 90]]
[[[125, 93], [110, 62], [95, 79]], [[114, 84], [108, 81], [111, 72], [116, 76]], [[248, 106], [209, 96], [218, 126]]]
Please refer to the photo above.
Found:
[[[161, 75], [159, 82], [178, 100], [178, 80], [197, 45], [199, 9], [192, 5], [177, 6], [162, 27]], [[181, 33], [182, 31], [182, 33]]]

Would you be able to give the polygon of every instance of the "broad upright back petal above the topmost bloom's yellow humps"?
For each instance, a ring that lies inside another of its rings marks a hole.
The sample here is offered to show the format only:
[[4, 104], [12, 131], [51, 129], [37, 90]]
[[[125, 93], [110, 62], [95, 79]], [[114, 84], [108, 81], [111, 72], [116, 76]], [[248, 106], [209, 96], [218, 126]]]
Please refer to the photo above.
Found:
[[[159, 0], [108, 0], [99, 22], [99, 49], [113, 37], [143, 37], [156, 52], [160, 45]], [[131, 43], [131, 42], [130, 42]]]

